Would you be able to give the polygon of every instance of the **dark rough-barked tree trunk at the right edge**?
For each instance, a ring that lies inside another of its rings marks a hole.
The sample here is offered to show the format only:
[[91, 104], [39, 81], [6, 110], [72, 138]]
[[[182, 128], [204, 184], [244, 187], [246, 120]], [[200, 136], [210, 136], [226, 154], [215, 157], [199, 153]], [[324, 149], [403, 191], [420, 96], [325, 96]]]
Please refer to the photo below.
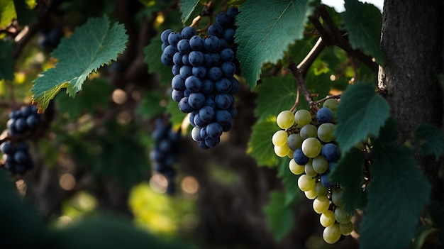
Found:
[[[443, 1], [384, 1], [381, 48], [386, 55], [379, 70], [392, 115], [399, 121], [399, 142], [411, 140], [421, 123], [443, 128]], [[444, 200], [440, 163], [435, 158], [416, 160], [431, 182], [431, 200]], [[442, 167], [442, 166], [441, 166]]]

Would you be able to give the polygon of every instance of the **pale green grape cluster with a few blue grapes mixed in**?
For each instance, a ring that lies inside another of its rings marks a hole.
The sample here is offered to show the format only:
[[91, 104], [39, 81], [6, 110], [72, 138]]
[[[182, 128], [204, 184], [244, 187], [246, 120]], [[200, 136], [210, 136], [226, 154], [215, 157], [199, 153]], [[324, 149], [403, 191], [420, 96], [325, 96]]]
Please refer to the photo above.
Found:
[[272, 136], [276, 155], [292, 158], [289, 169], [300, 175], [298, 187], [313, 199], [313, 210], [321, 214], [323, 239], [330, 244], [353, 231], [352, 216], [342, 208], [342, 189], [328, 179], [340, 156], [333, 133], [337, 105], [335, 99], [327, 99], [314, 117], [304, 109], [295, 114], [282, 111], [277, 125], [283, 130]]

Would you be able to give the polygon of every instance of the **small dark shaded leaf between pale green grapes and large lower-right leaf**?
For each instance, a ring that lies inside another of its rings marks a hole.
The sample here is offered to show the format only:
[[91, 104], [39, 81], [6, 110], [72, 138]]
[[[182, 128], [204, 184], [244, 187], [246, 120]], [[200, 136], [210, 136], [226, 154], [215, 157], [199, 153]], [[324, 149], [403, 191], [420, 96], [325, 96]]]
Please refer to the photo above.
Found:
[[364, 160], [364, 153], [352, 148], [347, 154], [343, 155], [329, 176], [332, 182], [339, 183], [343, 189], [343, 208], [349, 214], [355, 213], [355, 209], [363, 209], [367, 202], [365, 192], [362, 189]]

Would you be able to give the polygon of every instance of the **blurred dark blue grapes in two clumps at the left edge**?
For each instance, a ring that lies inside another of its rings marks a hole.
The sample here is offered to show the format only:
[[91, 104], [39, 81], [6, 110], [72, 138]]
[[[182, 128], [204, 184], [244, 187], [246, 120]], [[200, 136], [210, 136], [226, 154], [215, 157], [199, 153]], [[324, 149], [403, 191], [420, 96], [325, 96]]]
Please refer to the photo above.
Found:
[[23, 106], [9, 113], [9, 120], [6, 123], [8, 133], [10, 136], [19, 136], [16, 140], [8, 140], [0, 145], [5, 170], [23, 175], [33, 168], [28, 144], [21, 139], [20, 135], [32, 133], [39, 125], [40, 114], [37, 114], [36, 106]]

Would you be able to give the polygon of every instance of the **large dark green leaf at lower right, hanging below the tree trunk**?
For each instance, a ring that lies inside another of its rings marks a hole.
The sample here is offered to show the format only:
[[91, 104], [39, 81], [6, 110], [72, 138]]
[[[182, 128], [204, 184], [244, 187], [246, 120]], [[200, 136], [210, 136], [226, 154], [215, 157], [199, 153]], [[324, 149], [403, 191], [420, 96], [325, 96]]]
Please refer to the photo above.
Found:
[[406, 248], [428, 203], [431, 185], [419, 170], [412, 150], [374, 141], [373, 177], [360, 233], [362, 249]]

